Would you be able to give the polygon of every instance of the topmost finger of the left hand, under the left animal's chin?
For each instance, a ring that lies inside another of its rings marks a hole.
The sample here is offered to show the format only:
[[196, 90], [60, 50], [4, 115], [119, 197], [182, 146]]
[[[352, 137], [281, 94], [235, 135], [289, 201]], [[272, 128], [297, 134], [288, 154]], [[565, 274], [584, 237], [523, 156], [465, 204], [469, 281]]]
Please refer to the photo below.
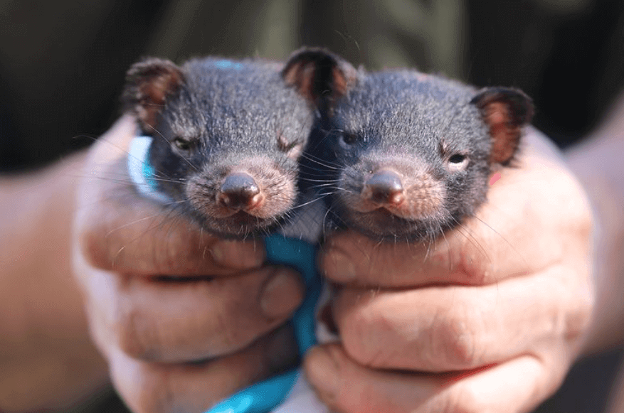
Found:
[[127, 207], [92, 205], [77, 225], [81, 252], [98, 268], [135, 275], [190, 277], [259, 267], [259, 241], [220, 240], [173, 211], [134, 199]]

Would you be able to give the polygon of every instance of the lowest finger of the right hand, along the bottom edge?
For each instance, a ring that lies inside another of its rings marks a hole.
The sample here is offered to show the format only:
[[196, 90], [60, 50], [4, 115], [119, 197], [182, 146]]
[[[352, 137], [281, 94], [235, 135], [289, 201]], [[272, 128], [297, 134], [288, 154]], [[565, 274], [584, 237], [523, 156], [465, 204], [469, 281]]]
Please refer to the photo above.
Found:
[[371, 370], [339, 345], [314, 348], [305, 370], [319, 397], [341, 413], [528, 412], [561, 382], [526, 355], [472, 372], [428, 375]]

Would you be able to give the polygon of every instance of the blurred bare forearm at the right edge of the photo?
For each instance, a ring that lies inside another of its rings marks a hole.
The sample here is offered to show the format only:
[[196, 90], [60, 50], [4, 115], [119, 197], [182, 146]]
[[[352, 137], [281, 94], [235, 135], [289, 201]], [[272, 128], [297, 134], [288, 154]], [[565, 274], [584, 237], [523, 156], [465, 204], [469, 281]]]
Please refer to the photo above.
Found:
[[[584, 353], [624, 345], [624, 92], [581, 144], [566, 153], [592, 204], [596, 308]], [[624, 399], [623, 399], [624, 400]]]

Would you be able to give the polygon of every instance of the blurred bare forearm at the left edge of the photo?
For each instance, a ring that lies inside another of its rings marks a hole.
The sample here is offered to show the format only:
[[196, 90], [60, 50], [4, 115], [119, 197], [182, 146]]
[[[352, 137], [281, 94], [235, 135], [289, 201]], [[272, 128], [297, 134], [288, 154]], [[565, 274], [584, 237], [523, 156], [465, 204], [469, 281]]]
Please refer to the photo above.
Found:
[[67, 412], [108, 383], [72, 277], [83, 153], [0, 176], [0, 412]]

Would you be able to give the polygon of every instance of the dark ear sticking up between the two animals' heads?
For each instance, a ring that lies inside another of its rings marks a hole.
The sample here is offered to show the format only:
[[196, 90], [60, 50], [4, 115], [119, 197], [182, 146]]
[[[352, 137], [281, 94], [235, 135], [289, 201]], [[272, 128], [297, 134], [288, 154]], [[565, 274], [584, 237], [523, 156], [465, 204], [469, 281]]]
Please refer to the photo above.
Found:
[[357, 71], [329, 50], [301, 48], [288, 59], [282, 77], [317, 107], [331, 109], [333, 102], [354, 84]]

